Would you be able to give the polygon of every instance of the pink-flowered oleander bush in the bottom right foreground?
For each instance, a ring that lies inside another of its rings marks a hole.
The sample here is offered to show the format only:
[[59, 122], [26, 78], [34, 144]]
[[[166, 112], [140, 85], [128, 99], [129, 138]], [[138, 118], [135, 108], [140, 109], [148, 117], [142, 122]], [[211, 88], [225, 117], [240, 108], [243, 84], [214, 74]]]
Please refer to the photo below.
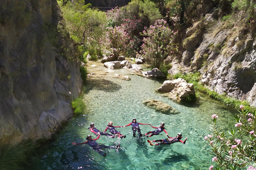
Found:
[[239, 108], [235, 117], [237, 123], [228, 133], [218, 125], [218, 115], [212, 115], [212, 134], [204, 139], [212, 147], [215, 169], [242, 169], [256, 161], [256, 112], [247, 110], [243, 105]]

